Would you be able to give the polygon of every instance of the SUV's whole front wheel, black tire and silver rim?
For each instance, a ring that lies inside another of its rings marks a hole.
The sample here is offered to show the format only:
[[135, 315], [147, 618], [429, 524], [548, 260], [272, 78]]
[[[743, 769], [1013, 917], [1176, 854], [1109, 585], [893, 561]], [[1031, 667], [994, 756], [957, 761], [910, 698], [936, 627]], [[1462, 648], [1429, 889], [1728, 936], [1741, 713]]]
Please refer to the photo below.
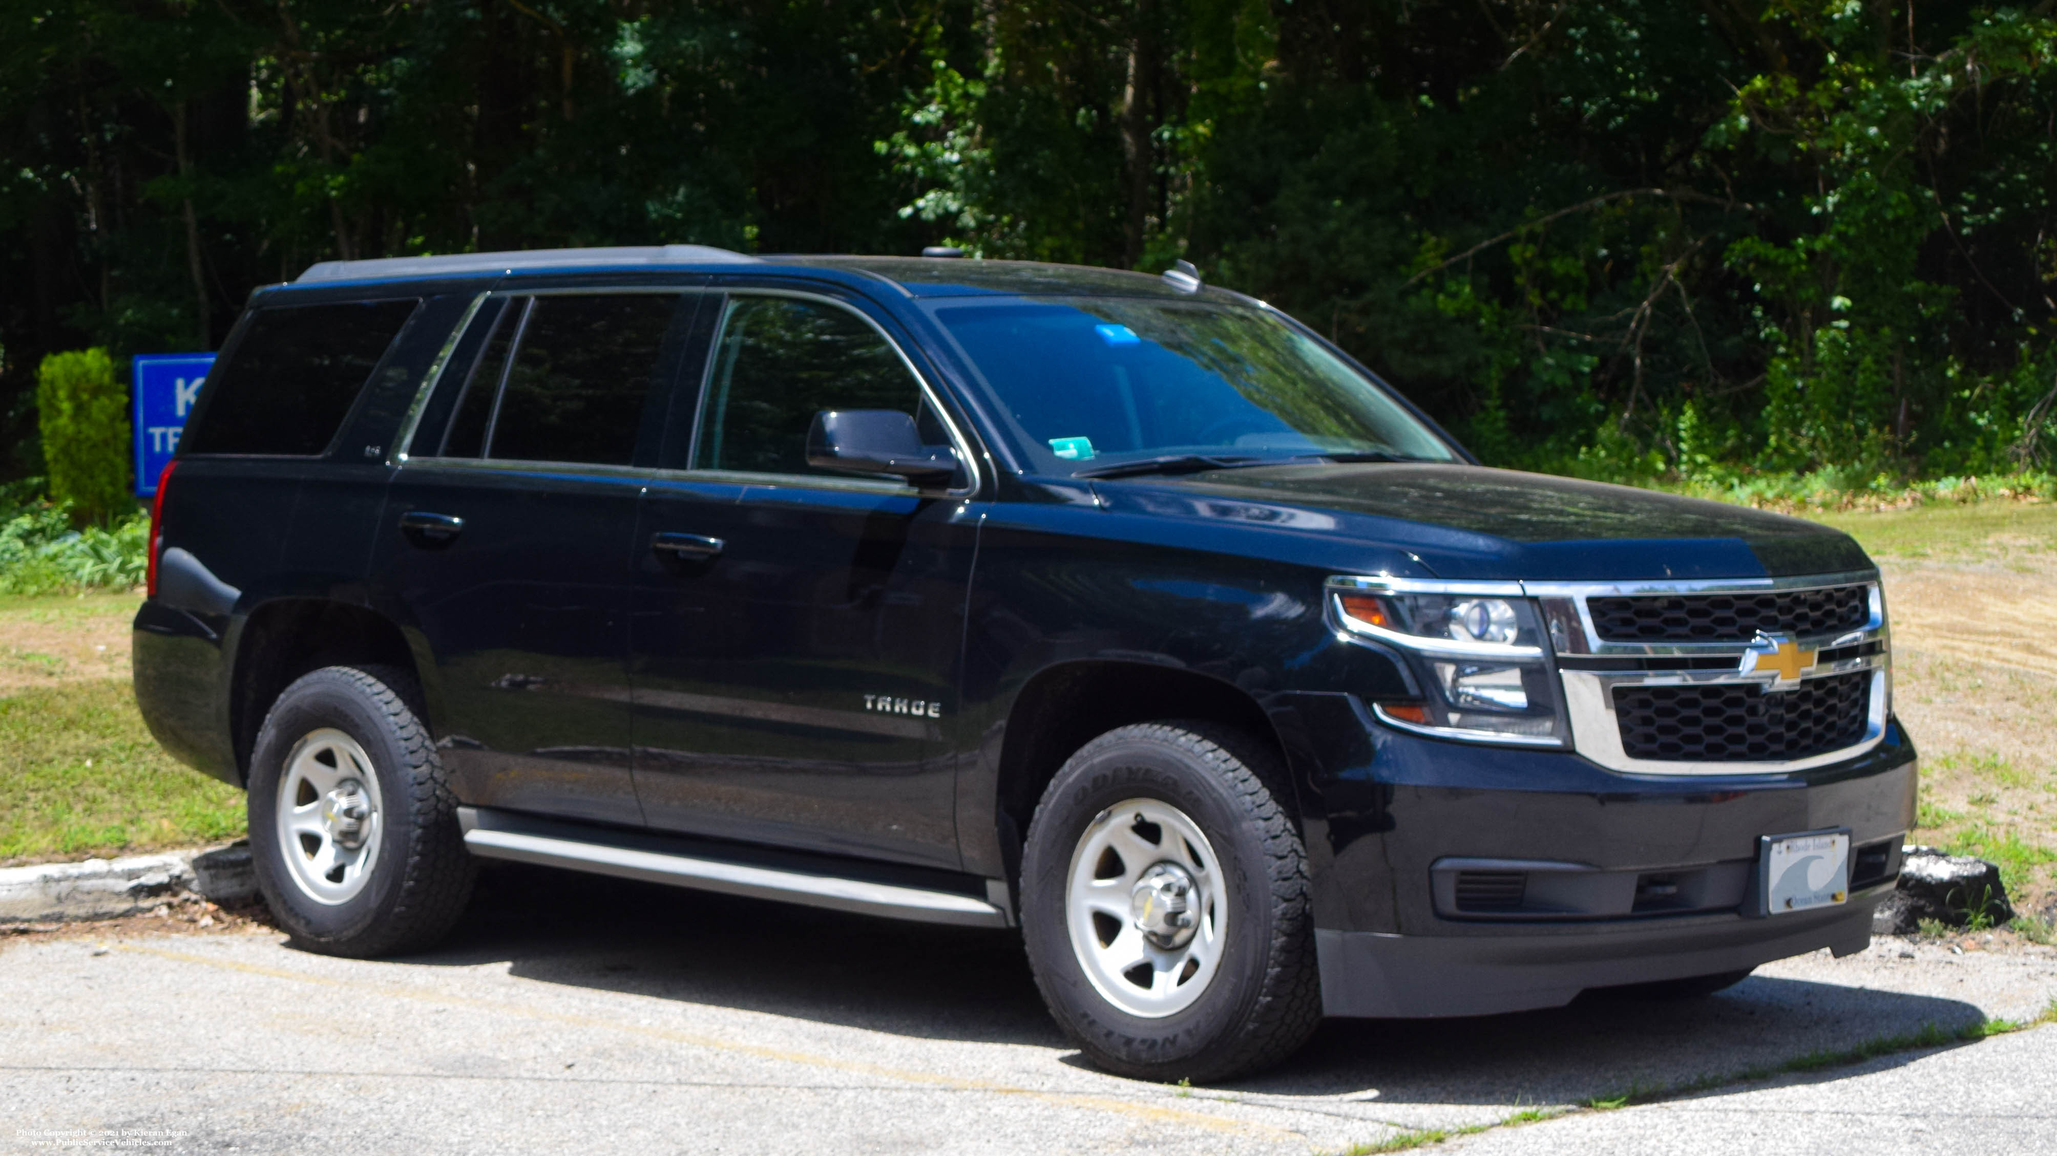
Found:
[[1094, 1063], [1220, 1080], [1321, 1022], [1286, 790], [1263, 743], [1205, 722], [1109, 730], [1051, 780], [1022, 856], [1022, 938]]

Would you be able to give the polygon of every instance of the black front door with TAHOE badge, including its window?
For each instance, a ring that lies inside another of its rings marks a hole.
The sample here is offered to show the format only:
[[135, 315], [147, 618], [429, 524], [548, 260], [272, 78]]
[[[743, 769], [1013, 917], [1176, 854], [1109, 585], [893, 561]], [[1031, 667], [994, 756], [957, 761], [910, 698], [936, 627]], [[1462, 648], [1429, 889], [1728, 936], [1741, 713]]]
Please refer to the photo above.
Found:
[[977, 506], [808, 467], [819, 409], [952, 440], [856, 311], [732, 294], [691, 469], [650, 483], [636, 531], [638, 794], [652, 827], [954, 868], [942, 720]]

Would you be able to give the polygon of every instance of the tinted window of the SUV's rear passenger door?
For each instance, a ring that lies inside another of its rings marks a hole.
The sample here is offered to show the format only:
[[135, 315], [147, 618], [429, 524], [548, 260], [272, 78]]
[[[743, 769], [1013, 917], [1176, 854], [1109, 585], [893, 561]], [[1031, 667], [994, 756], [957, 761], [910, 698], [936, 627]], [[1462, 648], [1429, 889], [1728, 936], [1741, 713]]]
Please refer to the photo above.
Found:
[[679, 294], [510, 302], [465, 383], [444, 453], [631, 465], [677, 306]]

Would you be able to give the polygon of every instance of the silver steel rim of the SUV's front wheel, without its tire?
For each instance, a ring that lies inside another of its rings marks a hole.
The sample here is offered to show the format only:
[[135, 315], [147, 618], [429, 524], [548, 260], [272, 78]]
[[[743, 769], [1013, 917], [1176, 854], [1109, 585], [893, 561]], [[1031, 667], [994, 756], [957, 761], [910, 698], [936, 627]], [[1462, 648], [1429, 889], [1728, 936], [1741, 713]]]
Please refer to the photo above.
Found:
[[1072, 852], [1063, 917], [1109, 1004], [1150, 1020], [1181, 1012], [1214, 979], [1228, 932], [1214, 845], [1168, 802], [1117, 802]]

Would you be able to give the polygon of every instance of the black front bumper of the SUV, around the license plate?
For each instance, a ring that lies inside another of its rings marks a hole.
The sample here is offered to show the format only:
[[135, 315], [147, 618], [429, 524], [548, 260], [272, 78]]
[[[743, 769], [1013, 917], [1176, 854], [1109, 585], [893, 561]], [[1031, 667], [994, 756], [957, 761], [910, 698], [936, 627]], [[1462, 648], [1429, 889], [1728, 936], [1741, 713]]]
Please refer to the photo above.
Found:
[[[1915, 751], [1897, 722], [1864, 755], [1798, 773], [1627, 775], [1574, 753], [1391, 730], [1347, 695], [1306, 695], [1273, 720], [1294, 763], [1333, 1016], [1549, 1008], [1588, 987], [1862, 950], [1913, 825]], [[1755, 915], [1761, 884], [1736, 864], [1755, 862], [1765, 835], [1831, 827], [1847, 827], [1851, 847], [1888, 845], [1884, 874], [1855, 874], [1841, 907]], [[1701, 893], [1728, 899], [1452, 911], [1448, 864], [1463, 860], [1576, 866], [1594, 880], [1582, 895], [1701, 872], [1726, 880]]]

